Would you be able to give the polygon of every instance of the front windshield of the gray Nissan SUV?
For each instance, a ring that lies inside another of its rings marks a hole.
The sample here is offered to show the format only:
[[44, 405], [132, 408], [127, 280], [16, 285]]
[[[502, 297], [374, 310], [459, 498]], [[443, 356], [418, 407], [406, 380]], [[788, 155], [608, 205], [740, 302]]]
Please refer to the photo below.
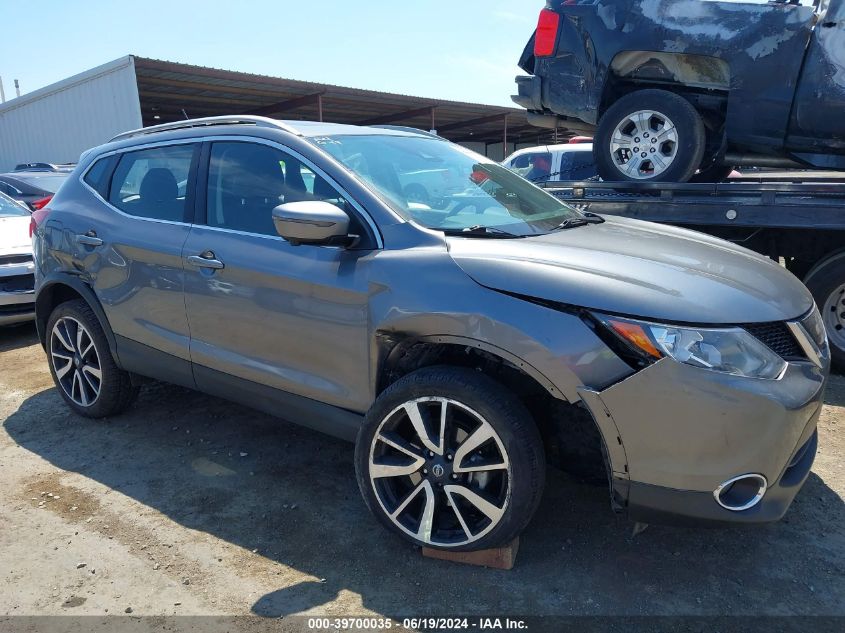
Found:
[[536, 235], [581, 217], [508, 169], [436, 138], [338, 135], [314, 142], [374, 189], [397, 213], [449, 233], [490, 229]]

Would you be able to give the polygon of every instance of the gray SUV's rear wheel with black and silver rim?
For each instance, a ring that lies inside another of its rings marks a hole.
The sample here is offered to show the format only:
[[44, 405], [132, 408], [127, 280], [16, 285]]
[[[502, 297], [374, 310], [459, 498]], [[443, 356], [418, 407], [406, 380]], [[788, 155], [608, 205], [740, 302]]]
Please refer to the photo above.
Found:
[[47, 320], [46, 343], [53, 382], [79, 415], [116, 415], [138, 394], [129, 374], [115, 364], [97, 315], [82, 299], [56, 306]]

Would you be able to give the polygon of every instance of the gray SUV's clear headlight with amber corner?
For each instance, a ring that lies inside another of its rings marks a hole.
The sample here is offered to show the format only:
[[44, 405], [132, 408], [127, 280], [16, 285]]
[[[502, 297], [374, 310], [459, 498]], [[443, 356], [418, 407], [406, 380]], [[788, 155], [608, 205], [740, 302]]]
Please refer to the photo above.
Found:
[[594, 315], [646, 360], [669, 356], [679, 363], [748, 378], [777, 379], [786, 361], [739, 327], [689, 328]]

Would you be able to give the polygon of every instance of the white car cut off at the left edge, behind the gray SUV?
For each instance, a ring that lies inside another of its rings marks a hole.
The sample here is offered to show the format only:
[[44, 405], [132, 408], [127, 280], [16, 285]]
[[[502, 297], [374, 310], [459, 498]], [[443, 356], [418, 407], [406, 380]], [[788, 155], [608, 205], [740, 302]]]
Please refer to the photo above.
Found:
[[0, 325], [35, 318], [29, 209], [0, 193]]

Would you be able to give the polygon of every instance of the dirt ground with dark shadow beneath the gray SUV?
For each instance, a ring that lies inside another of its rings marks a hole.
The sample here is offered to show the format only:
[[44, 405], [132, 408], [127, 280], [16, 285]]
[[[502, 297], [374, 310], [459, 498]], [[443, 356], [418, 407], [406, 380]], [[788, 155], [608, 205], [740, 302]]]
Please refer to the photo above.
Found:
[[0, 614], [845, 615], [845, 379], [781, 523], [651, 526], [550, 471], [510, 572], [421, 557], [359, 499], [351, 446], [152, 385], [69, 412], [32, 327], [0, 330]]

